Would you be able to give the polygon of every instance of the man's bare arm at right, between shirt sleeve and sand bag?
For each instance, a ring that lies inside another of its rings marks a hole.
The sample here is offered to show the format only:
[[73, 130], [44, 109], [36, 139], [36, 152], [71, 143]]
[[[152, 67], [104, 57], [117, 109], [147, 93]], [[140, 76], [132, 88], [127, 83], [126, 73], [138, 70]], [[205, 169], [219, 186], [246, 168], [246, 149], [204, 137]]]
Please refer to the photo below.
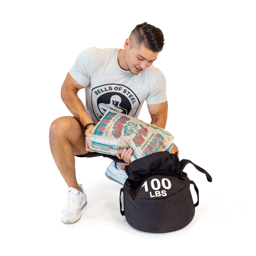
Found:
[[168, 114], [168, 102], [148, 105], [148, 111], [151, 116], [151, 124], [165, 128]]

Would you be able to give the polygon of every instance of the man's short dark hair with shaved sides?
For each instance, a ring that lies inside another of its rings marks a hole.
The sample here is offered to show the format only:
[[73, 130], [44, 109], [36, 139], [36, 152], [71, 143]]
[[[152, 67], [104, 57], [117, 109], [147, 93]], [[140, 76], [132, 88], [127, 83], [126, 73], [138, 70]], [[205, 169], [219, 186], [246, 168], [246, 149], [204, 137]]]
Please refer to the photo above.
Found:
[[134, 36], [136, 43], [140, 46], [144, 44], [152, 52], [161, 52], [164, 47], [164, 35], [159, 28], [144, 22], [138, 24], [132, 30], [130, 37]]

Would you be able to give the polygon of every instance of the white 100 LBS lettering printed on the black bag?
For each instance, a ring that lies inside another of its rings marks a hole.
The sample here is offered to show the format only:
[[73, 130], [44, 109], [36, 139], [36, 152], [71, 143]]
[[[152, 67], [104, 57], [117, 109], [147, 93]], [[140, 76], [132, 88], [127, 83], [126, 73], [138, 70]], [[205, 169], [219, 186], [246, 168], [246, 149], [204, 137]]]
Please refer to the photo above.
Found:
[[[162, 191], [159, 191], [160, 188], [161, 188], [161, 184], [162, 184], [162, 187], [164, 189], [170, 189], [172, 184], [170, 182], [170, 180], [166, 179], [166, 178], [162, 178], [161, 182], [160, 180], [158, 179], [152, 179], [151, 182], [150, 182], [150, 186], [153, 190], [155, 190], [152, 194], [152, 192], [150, 191], [150, 197], [156, 197], [156, 196], [166, 196], [166, 190], [162, 190]], [[142, 188], [144, 187], [145, 188], [145, 192], [148, 192], [148, 182], [145, 181], [143, 183], [143, 185], [141, 186]]]

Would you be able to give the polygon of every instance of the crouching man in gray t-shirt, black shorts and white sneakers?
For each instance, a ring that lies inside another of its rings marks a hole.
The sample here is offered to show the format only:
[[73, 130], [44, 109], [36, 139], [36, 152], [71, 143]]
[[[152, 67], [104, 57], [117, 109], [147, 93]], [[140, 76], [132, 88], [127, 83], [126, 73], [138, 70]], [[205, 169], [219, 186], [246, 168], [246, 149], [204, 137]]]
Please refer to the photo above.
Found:
[[[76, 222], [86, 204], [84, 189], [76, 180], [74, 156], [99, 155], [88, 148], [86, 136], [90, 136], [94, 124], [102, 117], [104, 104], [109, 104], [113, 96], [119, 96], [118, 107], [138, 117], [146, 100], [151, 123], [165, 128], [168, 110], [166, 80], [152, 65], [163, 46], [162, 31], [145, 22], [134, 28], [124, 43], [124, 49], [88, 48], [79, 54], [68, 72], [61, 97], [74, 117], [58, 118], [50, 127], [52, 156], [69, 188], [62, 212], [63, 222]], [[85, 106], [77, 96], [83, 88], [86, 91]], [[117, 157], [113, 156], [114, 162], [107, 168], [106, 175], [114, 180], [116, 176], [125, 180], [123, 169], [130, 163], [131, 155], [132, 150], [128, 149]]]

